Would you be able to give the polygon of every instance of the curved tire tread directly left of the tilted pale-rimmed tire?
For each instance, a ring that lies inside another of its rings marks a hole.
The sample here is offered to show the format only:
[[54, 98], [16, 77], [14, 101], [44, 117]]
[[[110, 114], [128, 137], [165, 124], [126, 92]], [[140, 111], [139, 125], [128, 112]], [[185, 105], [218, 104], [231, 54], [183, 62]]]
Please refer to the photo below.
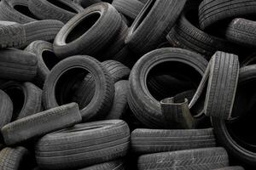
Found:
[[64, 24], [59, 20], [38, 20], [25, 24], [26, 44], [24, 46], [36, 40], [53, 42], [63, 26]]

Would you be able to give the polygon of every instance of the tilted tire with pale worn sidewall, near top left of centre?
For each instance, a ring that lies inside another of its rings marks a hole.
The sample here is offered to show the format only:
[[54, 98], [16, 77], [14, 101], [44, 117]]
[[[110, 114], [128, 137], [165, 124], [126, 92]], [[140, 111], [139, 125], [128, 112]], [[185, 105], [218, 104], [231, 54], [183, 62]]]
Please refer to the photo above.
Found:
[[[85, 21], [90, 23], [90, 27], [85, 27], [87, 30], [79, 29], [80, 26], [84, 28]], [[119, 13], [112, 5], [96, 3], [75, 15], [62, 27], [55, 37], [55, 54], [60, 59], [76, 54], [96, 56], [117, 36], [121, 23]]]

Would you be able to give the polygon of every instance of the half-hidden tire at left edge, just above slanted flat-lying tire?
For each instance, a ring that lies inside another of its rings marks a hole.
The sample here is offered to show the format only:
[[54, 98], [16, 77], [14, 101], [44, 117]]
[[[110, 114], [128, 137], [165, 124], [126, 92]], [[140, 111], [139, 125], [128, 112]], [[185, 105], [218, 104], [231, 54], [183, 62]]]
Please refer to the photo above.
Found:
[[0, 88], [9, 95], [14, 105], [11, 122], [42, 111], [42, 90], [31, 82], [5, 82]]

